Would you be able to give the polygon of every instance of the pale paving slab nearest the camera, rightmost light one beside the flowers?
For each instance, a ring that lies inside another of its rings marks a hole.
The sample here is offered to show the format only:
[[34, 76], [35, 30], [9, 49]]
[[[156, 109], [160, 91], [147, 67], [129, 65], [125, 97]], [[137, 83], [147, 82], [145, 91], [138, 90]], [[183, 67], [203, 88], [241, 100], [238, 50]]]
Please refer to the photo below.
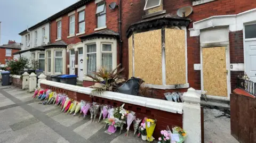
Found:
[[87, 120], [87, 122], [73, 131], [78, 133], [80, 136], [85, 139], [89, 139], [94, 133], [98, 132], [101, 128], [104, 127], [105, 124], [101, 123], [91, 123], [91, 121]]

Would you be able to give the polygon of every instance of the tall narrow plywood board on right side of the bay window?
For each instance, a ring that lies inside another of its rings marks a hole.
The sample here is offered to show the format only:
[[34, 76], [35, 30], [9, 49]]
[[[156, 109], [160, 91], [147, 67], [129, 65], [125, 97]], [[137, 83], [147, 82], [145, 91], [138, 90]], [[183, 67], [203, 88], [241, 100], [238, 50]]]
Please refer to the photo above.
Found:
[[165, 29], [166, 85], [186, 83], [185, 30]]

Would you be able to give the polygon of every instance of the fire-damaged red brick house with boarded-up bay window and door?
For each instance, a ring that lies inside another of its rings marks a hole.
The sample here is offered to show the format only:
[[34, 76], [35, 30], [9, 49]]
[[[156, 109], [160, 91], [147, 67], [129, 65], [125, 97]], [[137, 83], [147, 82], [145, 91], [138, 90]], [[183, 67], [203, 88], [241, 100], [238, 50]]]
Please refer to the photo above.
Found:
[[[193, 13], [177, 16], [186, 6]], [[161, 93], [193, 87], [229, 100], [237, 75], [256, 82], [255, 7], [250, 0], [122, 1], [126, 75]]]

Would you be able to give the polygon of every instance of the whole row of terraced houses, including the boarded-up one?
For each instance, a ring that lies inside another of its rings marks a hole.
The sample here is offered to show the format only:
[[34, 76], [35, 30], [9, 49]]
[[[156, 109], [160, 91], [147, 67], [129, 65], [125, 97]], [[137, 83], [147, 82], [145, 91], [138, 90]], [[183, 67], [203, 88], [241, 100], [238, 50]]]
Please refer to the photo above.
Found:
[[[186, 6], [193, 13], [177, 16]], [[86, 74], [121, 63], [126, 78], [160, 93], [193, 87], [229, 99], [237, 75], [255, 82], [255, 7], [250, 0], [81, 0], [22, 31], [14, 57], [41, 60], [46, 75], [76, 74], [84, 86], [93, 84]]]

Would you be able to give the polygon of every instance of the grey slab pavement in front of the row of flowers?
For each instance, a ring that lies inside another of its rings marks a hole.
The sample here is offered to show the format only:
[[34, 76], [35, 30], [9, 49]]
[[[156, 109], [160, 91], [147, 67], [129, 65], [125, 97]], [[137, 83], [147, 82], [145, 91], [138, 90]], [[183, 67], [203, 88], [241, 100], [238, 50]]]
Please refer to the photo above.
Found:
[[13, 86], [0, 86], [0, 142], [118, 143], [147, 142], [126, 129], [111, 135], [103, 123], [66, 115], [54, 105], [38, 104], [33, 94]]

